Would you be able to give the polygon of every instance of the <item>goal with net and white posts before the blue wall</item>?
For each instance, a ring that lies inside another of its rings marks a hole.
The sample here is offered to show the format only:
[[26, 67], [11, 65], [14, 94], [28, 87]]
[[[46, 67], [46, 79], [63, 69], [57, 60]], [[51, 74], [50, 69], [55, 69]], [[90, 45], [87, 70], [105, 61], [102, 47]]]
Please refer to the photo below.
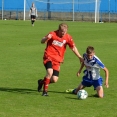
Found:
[[24, 20], [34, 3], [41, 20], [99, 22], [100, 0], [24, 0]]

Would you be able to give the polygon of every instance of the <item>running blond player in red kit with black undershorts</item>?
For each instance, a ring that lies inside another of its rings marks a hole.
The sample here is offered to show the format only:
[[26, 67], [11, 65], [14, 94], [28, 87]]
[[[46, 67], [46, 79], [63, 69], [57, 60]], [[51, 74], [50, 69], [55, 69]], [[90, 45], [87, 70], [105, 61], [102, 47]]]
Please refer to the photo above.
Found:
[[63, 63], [67, 45], [79, 58], [80, 62], [83, 61], [72, 37], [67, 33], [67, 30], [68, 25], [61, 23], [58, 30], [50, 32], [41, 40], [42, 44], [47, 43], [43, 56], [46, 75], [43, 80], [38, 80], [38, 92], [41, 91], [43, 86], [42, 96], [48, 96], [47, 91], [49, 84], [57, 82], [59, 78], [60, 64]]

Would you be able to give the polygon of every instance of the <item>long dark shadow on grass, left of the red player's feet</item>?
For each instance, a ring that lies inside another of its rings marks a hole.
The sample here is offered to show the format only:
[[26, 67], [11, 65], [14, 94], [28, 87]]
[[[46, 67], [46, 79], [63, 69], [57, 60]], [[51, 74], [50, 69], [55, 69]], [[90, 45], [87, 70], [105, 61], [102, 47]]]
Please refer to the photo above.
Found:
[[37, 90], [27, 89], [27, 88], [10, 88], [10, 87], [0, 87], [0, 91], [21, 93], [21, 94], [37, 94]]

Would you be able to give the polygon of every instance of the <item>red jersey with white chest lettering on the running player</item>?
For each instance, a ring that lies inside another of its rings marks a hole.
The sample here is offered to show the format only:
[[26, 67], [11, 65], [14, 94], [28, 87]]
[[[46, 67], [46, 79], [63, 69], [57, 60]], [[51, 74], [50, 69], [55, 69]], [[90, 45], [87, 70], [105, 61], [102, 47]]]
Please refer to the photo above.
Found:
[[59, 37], [58, 30], [50, 32], [49, 34], [52, 35], [52, 38], [47, 41], [44, 58], [49, 57], [51, 60], [63, 62], [66, 46], [68, 45], [71, 49], [73, 49], [75, 43], [69, 34]]

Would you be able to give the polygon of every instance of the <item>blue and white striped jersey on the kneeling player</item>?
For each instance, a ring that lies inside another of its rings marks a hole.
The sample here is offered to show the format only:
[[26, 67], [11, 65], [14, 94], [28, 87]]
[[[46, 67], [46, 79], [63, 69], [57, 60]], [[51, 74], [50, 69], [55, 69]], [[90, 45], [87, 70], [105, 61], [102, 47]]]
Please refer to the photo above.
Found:
[[87, 54], [83, 54], [84, 65], [86, 66], [86, 70], [84, 70], [84, 74], [87, 78], [92, 80], [97, 80], [100, 78], [100, 68], [104, 68], [104, 64], [101, 60], [94, 55], [91, 60], [88, 59]]

